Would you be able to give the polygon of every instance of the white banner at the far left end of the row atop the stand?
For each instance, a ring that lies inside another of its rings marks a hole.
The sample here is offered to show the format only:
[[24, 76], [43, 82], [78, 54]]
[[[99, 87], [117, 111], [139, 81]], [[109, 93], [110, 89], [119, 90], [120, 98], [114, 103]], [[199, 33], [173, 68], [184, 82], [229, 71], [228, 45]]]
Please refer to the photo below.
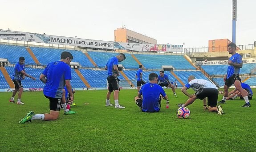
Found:
[[9, 30], [0, 30], [0, 39], [26, 41], [26, 33]]

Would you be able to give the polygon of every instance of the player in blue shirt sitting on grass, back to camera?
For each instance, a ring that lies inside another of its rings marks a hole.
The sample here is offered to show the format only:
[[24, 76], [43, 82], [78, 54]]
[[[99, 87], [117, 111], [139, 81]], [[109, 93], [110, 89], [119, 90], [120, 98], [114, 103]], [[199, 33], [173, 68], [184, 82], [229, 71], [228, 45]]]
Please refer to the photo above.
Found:
[[[168, 100], [168, 96], [160, 87], [158, 82], [158, 75], [150, 73], [148, 76], [149, 83], [144, 84], [138, 92], [138, 96], [134, 98], [135, 103], [139, 106], [142, 112], [159, 112], [161, 108], [161, 96]], [[142, 98], [143, 96], [143, 98]]]

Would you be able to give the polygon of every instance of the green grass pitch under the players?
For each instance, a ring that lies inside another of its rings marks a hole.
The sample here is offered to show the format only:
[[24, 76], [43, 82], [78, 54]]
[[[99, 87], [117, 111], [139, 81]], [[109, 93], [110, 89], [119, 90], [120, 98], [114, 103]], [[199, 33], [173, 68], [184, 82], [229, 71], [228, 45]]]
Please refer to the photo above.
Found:
[[[183, 120], [177, 118], [176, 110], [187, 96], [180, 89], [176, 91], [179, 98], [171, 89], [165, 91], [170, 108], [163, 100], [158, 113], [139, 110], [134, 103], [137, 90], [121, 90], [119, 103], [125, 109], [105, 107], [106, 90], [77, 91], [77, 105], [71, 107], [76, 114], [63, 115], [62, 110], [58, 120], [25, 124], [18, 122], [28, 111], [49, 112], [49, 101], [43, 93], [24, 92], [25, 104], [17, 105], [8, 102], [12, 92], [0, 92], [0, 152], [256, 151], [255, 97], [249, 108], [240, 107], [244, 100], [227, 101], [222, 105], [224, 115], [203, 110], [202, 101], [196, 100], [188, 106], [191, 116]], [[256, 89], [253, 92], [256, 94]], [[113, 98], [110, 103], [114, 104]]]

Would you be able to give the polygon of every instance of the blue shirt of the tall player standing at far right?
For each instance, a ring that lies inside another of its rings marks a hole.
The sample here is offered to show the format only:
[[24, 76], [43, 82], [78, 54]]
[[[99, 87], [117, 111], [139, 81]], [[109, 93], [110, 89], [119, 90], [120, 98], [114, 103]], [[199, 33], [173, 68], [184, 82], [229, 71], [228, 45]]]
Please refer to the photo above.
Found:
[[[233, 56], [229, 58], [229, 60], [232, 60], [233, 63], [240, 64], [243, 63], [243, 58], [240, 54], [236, 53]], [[232, 76], [233, 74], [239, 74], [240, 68], [236, 68], [233, 65], [228, 65], [228, 72], [227, 72], [227, 78]]]

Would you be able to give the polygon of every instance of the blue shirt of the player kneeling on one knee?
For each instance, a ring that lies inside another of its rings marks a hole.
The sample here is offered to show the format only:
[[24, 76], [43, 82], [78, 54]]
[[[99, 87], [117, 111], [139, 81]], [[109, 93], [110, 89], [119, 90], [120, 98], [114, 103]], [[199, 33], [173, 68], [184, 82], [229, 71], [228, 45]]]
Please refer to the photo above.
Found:
[[61, 98], [65, 80], [71, 80], [71, 68], [62, 61], [51, 62], [42, 72], [46, 76], [44, 95], [52, 98]]

